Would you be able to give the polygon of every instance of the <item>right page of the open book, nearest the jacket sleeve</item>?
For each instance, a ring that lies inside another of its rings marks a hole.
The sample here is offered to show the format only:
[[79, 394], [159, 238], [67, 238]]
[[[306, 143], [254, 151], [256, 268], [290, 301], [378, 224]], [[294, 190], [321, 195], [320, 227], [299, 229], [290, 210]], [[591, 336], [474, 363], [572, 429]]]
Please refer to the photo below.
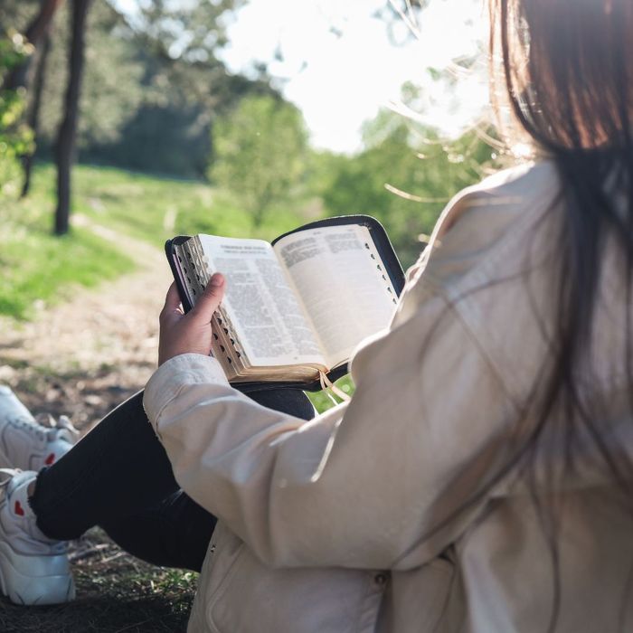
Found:
[[387, 327], [397, 303], [369, 230], [357, 224], [298, 231], [275, 244], [326, 350], [329, 367]]

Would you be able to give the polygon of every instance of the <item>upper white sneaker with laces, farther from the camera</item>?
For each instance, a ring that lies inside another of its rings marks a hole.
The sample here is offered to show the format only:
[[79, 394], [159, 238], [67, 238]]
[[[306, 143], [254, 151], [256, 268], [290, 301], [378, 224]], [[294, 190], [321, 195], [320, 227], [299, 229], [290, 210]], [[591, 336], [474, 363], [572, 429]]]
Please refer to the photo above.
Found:
[[14, 392], [0, 385], [0, 467], [39, 471], [65, 455], [78, 435], [65, 415], [49, 427], [33, 418]]

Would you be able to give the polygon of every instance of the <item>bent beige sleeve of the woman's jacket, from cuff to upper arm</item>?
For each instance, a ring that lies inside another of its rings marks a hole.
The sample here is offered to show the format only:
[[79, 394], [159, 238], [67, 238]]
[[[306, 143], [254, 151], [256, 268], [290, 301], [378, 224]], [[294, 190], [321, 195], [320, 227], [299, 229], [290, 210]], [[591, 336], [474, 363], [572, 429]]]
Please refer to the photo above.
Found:
[[147, 384], [180, 486], [270, 566], [409, 568], [484, 503], [464, 505], [498, 458], [505, 394], [449, 303], [416, 292], [412, 316], [355, 355], [352, 402], [315, 420], [261, 407], [202, 355]]

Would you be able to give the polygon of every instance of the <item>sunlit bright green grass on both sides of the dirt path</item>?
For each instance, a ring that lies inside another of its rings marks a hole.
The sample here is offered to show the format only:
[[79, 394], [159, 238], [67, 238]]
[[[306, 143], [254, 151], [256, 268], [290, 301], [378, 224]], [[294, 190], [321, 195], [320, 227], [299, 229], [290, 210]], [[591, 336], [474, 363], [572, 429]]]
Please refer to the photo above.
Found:
[[[52, 165], [41, 165], [27, 199], [2, 199], [6, 237], [0, 250], [0, 315], [31, 318], [37, 307], [70, 297], [76, 286], [93, 287], [134, 266], [115, 244], [80, 227], [64, 238], [51, 235], [54, 182]], [[77, 165], [73, 200], [72, 213], [157, 248], [176, 234], [252, 234], [249, 214], [229, 195], [194, 181]], [[256, 237], [270, 240], [312, 219], [305, 203], [300, 206], [269, 213]]]

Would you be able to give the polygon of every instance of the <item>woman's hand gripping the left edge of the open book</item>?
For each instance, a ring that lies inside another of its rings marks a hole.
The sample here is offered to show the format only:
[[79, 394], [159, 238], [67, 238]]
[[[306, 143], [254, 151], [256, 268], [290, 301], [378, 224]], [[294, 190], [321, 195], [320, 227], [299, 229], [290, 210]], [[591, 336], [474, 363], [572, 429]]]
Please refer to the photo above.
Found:
[[211, 352], [213, 332], [211, 317], [224, 297], [224, 278], [215, 273], [192, 310], [186, 315], [180, 306], [175, 283], [169, 287], [165, 307], [160, 313], [160, 339], [158, 364], [161, 365], [179, 354]]

